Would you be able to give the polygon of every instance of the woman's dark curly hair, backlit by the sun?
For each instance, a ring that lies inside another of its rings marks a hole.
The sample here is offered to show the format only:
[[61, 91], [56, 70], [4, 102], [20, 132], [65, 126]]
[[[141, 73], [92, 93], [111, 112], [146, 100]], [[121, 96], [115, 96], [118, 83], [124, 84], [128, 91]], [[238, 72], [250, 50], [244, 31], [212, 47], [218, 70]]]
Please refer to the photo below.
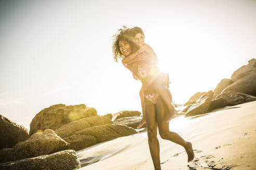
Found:
[[133, 34], [131, 32], [131, 29], [128, 29], [126, 26], [123, 26], [123, 29], [118, 30], [119, 33], [113, 35], [113, 46], [112, 46], [112, 52], [114, 55], [114, 61], [118, 62], [118, 59], [123, 59], [125, 56], [121, 53], [119, 48], [119, 41], [124, 40], [129, 43], [131, 48], [131, 53], [136, 52], [139, 49], [139, 46], [135, 43]]

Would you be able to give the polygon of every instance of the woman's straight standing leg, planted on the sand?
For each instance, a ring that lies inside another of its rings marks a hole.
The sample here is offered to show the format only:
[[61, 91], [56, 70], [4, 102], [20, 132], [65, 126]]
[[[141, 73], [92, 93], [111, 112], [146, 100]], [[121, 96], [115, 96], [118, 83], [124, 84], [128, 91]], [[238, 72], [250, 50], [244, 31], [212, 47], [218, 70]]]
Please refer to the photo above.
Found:
[[155, 170], [161, 169], [160, 166], [160, 149], [159, 141], [157, 139], [157, 118], [155, 105], [149, 100], [145, 100], [145, 118], [148, 131], [148, 145], [151, 154], [151, 158], [155, 167]]

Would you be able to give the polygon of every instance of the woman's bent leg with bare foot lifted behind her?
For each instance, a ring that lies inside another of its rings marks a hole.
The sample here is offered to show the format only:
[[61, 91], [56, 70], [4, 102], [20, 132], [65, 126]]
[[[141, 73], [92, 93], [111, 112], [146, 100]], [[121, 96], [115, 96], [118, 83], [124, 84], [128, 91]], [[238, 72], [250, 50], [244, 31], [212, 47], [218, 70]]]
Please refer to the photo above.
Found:
[[194, 156], [195, 156], [192, 145], [190, 142], [185, 141], [177, 133], [169, 131], [169, 122], [167, 122], [168, 116], [166, 114], [167, 109], [165, 108], [166, 108], [166, 105], [163, 102], [161, 96], [159, 96], [156, 104], [159, 134], [161, 138], [170, 140], [178, 145], [183, 146], [188, 155], [188, 162], [190, 162], [194, 159]]

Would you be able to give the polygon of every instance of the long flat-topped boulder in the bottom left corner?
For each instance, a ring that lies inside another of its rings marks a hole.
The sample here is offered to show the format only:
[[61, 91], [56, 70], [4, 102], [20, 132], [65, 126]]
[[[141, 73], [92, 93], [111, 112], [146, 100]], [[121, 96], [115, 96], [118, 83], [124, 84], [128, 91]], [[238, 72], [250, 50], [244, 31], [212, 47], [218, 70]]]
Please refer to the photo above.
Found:
[[72, 170], [80, 167], [78, 154], [74, 150], [63, 150], [49, 155], [0, 164], [0, 169], [3, 170]]

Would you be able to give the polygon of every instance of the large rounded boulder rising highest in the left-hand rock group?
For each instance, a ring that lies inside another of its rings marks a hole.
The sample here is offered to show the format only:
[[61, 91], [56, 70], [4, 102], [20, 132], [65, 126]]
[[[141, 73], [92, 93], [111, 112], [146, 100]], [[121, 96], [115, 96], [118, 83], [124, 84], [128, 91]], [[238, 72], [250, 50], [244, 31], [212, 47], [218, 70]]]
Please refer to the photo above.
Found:
[[56, 130], [74, 120], [96, 116], [94, 108], [87, 108], [84, 104], [66, 106], [63, 104], [53, 105], [40, 111], [30, 123], [29, 135], [42, 132], [46, 129]]

